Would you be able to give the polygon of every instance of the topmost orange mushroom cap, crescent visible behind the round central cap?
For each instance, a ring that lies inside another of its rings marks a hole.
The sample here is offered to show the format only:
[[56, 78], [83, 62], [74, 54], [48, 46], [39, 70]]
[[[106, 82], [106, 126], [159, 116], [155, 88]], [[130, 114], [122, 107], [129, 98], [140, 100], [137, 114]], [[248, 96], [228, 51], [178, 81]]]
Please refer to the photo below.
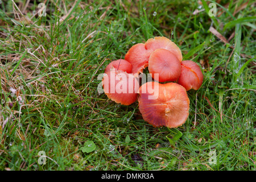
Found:
[[172, 42], [170, 39], [164, 37], [164, 36], [156, 36], [154, 39], [148, 39], [145, 43], [146, 49], [150, 49], [154, 51], [155, 49], [167, 49], [168, 51], [174, 53], [174, 55], [179, 59], [179, 61], [182, 61], [182, 53], [180, 51], [180, 48], [177, 47], [177, 45]]

